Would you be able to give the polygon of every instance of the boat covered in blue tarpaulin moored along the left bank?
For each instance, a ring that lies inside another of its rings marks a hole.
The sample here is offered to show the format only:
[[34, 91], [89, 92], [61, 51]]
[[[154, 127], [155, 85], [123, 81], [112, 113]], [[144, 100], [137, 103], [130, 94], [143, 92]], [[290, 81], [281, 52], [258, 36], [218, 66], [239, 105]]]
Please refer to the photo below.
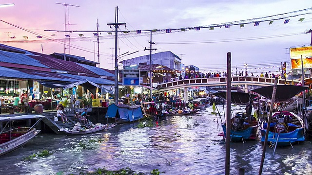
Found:
[[137, 121], [143, 118], [141, 105], [112, 104], [108, 106], [105, 117], [117, 124]]

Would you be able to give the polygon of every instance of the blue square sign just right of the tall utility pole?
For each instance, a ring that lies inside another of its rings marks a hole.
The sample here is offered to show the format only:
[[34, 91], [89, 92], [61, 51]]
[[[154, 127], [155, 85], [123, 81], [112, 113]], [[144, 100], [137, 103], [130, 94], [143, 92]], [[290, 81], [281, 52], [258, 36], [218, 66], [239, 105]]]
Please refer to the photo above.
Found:
[[123, 86], [139, 86], [140, 70], [122, 70]]

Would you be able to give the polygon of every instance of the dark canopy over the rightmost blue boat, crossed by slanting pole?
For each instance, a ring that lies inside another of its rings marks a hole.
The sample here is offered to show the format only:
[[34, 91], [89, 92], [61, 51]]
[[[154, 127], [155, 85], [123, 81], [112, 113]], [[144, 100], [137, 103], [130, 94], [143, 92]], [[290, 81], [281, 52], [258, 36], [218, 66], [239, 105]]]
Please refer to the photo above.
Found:
[[[295, 95], [306, 89], [308, 88], [295, 85], [277, 85], [275, 93], [275, 101], [276, 102], [287, 101], [288, 99], [294, 97]], [[273, 86], [257, 88], [251, 91], [258, 93], [264, 96], [265, 98], [272, 99]]]

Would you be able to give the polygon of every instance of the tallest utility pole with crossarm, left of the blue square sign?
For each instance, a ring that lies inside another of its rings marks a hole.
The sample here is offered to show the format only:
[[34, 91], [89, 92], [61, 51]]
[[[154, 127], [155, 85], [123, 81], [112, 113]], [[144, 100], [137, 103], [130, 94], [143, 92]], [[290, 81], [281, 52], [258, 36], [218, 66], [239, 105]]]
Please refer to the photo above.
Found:
[[115, 17], [115, 23], [108, 23], [107, 25], [112, 28], [112, 26], [115, 27], [115, 104], [118, 104], [118, 58], [117, 58], [117, 39], [118, 39], [118, 27], [119, 25], [125, 25], [126, 23], [121, 22], [118, 23], [118, 7], [116, 7], [116, 17]]

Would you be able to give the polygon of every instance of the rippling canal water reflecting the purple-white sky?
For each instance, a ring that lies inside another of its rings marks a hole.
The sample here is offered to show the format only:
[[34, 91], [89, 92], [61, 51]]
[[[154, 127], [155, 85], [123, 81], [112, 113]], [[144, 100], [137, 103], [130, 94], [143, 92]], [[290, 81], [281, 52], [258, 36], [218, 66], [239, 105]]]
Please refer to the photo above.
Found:
[[[217, 105], [224, 122], [223, 106]], [[236, 106], [242, 111], [242, 106]], [[226, 111], [226, 109], [225, 109]], [[158, 169], [166, 175], [224, 175], [225, 144], [220, 118], [212, 107], [192, 116], [168, 117], [153, 127], [139, 123], [117, 125], [107, 132], [85, 136], [39, 134], [23, 148], [0, 157], [1, 175], [65, 175], [105, 167], [149, 174]], [[235, 112], [235, 111], [234, 111]], [[306, 141], [292, 147], [267, 148], [263, 175], [312, 174], [312, 144]], [[51, 155], [27, 160], [39, 151]], [[258, 174], [262, 143], [258, 140], [231, 143], [231, 174], [238, 168], [245, 175]]]

